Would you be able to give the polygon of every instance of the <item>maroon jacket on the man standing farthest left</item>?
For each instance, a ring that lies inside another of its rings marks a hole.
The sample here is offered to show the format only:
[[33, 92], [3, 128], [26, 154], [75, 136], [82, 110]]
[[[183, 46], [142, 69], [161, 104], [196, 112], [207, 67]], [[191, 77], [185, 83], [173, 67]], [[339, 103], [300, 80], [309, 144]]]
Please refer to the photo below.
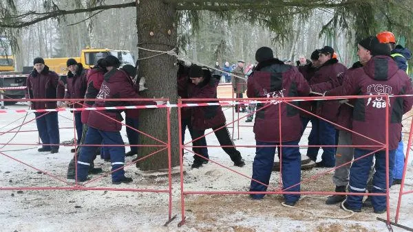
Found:
[[36, 69], [30, 73], [26, 86], [25, 97], [27, 99], [54, 99], [51, 102], [33, 100], [33, 110], [57, 108], [55, 99], [63, 99], [65, 96], [65, 87], [59, 84], [59, 76], [54, 71], [50, 71], [46, 65], [41, 73], [38, 73]]

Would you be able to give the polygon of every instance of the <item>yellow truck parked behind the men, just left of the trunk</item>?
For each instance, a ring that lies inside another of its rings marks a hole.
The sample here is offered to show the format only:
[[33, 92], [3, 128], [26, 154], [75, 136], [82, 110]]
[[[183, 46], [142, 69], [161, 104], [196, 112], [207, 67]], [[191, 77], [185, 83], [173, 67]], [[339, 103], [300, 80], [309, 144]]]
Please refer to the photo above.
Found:
[[116, 50], [116, 49], [95, 49], [86, 47], [81, 51], [80, 57], [67, 57], [67, 58], [45, 58], [45, 65], [49, 67], [50, 70], [55, 71], [59, 76], [67, 75], [66, 61], [69, 58], [74, 58], [77, 62], [83, 65], [83, 68], [90, 69], [96, 65], [96, 62], [100, 58], [105, 58], [106, 56], [116, 56], [123, 65], [134, 65], [135, 59], [133, 54], [127, 50]]

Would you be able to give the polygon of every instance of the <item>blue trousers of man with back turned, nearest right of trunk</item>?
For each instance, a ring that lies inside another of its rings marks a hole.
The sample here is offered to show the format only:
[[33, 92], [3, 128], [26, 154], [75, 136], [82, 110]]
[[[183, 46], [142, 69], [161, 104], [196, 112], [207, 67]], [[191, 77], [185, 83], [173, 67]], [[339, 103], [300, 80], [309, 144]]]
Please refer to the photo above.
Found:
[[[279, 143], [268, 143], [256, 141], [257, 146], [275, 146]], [[282, 145], [297, 147], [282, 147], [282, 183], [283, 189], [296, 185], [301, 181], [301, 154], [299, 153], [298, 141], [282, 142]], [[271, 171], [273, 169], [276, 147], [259, 147], [255, 152], [253, 163], [253, 179], [268, 185], [270, 183]], [[266, 192], [267, 187], [251, 181], [251, 192]], [[287, 189], [288, 192], [299, 192], [300, 185]], [[251, 194], [252, 198], [260, 199], [265, 194]], [[284, 194], [286, 202], [296, 202], [299, 195]]]

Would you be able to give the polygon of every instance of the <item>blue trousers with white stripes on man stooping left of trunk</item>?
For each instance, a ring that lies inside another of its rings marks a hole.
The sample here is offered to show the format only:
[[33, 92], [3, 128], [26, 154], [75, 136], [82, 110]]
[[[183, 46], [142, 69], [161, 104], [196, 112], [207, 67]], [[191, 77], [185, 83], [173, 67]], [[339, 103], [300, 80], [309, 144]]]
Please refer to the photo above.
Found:
[[[122, 136], [118, 131], [103, 131], [89, 126], [86, 133], [85, 145], [101, 144], [105, 145], [124, 145]], [[109, 151], [110, 161], [112, 162], [112, 172], [125, 164], [125, 147], [109, 146], [106, 147]], [[84, 146], [81, 149], [81, 154], [77, 161], [77, 178], [78, 181], [85, 181], [87, 172], [94, 159], [96, 146]], [[112, 173], [112, 181], [120, 181], [125, 177], [125, 170], [120, 170]]]

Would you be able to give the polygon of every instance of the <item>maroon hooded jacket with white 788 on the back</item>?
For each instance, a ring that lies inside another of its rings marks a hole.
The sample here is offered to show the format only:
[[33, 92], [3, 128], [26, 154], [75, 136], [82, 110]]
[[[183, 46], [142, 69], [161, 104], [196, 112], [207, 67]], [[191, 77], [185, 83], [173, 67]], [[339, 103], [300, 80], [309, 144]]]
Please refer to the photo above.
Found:
[[[398, 147], [401, 137], [401, 119], [412, 108], [412, 97], [396, 97], [412, 94], [407, 74], [399, 69], [388, 56], [374, 56], [362, 69], [348, 73], [344, 78], [341, 95], [389, 95], [385, 97], [357, 99], [354, 103], [352, 128], [355, 146], [377, 146], [362, 149], [377, 150], [385, 144], [385, 109], [389, 108], [389, 149]], [[377, 143], [378, 141], [379, 143]]]

